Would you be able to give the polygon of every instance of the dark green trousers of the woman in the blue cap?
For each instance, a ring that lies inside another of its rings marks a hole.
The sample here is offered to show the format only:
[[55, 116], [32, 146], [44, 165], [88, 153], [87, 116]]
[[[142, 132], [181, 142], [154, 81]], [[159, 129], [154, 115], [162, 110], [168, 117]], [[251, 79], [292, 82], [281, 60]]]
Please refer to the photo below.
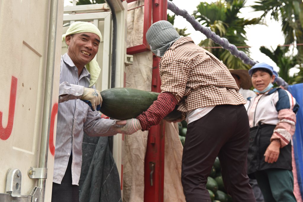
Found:
[[255, 172], [265, 202], [296, 202], [292, 171], [271, 168]]

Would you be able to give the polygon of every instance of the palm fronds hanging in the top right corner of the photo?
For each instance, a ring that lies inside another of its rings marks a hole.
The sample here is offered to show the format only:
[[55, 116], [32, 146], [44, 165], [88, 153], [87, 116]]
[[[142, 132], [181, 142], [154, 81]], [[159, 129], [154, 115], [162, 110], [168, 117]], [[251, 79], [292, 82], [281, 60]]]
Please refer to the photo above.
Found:
[[[252, 8], [263, 11], [261, 18], [270, 14], [282, 23], [285, 44], [303, 44], [303, 2], [302, 0], [257, 0]], [[303, 46], [298, 46], [298, 55], [303, 55]], [[303, 58], [298, 60], [303, 63]]]

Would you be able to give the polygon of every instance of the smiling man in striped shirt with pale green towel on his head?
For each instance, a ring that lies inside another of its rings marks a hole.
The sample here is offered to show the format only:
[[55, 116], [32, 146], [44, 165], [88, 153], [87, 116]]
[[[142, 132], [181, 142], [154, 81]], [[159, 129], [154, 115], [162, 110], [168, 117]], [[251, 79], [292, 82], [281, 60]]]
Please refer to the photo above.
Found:
[[102, 103], [94, 86], [100, 67], [93, 60], [102, 40], [100, 31], [92, 23], [74, 22], [63, 39], [68, 49], [61, 57], [52, 201], [77, 202], [84, 132], [110, 136], [117, 127], [95, 110]]

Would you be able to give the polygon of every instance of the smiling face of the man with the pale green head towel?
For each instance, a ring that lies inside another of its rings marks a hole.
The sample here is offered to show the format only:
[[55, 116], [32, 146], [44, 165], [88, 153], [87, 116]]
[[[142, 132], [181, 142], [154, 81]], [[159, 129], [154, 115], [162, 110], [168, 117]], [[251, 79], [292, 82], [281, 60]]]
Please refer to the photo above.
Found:
[[76, 67], [82, 68], [88, 64], [98, 52], [100, 37], [97, 34], [83, 32], [65, 37], [68, 45], [67, 54]]

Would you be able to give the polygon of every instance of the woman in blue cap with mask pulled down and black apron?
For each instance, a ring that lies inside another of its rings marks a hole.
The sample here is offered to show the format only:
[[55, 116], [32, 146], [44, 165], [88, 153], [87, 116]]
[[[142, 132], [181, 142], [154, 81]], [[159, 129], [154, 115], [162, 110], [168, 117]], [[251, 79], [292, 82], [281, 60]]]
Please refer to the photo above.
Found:
[[256, 96], [245, 104], [250, 134], [248, 176], [258, 181], [265, 201], [296, 201], [293, 194], [291, 136], [298, 103], [281, 88], [273, 88], [278, 73], [266, 63], [248, 71]]

